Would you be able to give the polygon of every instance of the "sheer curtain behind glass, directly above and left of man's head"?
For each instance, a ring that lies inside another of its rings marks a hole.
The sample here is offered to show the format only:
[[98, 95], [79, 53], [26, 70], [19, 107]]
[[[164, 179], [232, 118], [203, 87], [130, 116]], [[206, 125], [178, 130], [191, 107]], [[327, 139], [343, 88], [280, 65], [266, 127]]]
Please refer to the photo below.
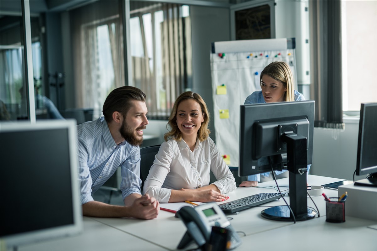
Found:
[[102, 116], [107, 95], [125, 85], [123, 32], [116, 0], [70, 11], [76, 106]]

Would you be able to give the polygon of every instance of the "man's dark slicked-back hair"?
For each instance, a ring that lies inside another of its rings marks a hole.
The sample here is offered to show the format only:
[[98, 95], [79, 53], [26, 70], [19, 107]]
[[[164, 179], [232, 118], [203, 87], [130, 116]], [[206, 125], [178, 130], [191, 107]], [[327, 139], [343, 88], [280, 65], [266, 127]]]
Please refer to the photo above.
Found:
[[126, 117], [127, 112], [132, 107], [131, 101], [144, 101], [146, 95], [139, 88], [133, 86], [122, 86], [113, 89], [107, 96], [102, 107], [103, 115], [109, 123], [113, 120], [113, 113], [120, 112]]

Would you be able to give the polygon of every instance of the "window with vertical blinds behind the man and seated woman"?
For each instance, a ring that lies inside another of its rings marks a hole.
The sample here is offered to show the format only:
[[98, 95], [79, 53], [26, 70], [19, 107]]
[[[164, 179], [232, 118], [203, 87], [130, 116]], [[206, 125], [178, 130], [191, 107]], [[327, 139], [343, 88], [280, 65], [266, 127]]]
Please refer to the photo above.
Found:
[[131, 2], [133, 85], [147, 95], [150, 119], [167, 119], [181, 92], [192, 87], [189, 6]]

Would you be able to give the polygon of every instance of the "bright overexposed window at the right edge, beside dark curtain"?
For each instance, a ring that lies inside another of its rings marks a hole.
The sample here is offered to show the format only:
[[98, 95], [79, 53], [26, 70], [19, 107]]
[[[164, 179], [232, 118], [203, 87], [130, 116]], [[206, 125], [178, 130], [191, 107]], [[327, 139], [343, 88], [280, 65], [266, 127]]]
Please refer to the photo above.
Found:
[[343, 111], [377, 102], [377, 2], [342, 0]]

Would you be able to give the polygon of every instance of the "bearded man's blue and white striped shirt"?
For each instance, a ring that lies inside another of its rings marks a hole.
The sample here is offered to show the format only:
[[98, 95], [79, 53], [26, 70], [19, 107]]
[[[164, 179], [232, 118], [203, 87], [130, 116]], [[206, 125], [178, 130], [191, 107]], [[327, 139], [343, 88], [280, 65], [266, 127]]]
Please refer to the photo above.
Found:
[[115, 144], [104, 117], [77, 126], [81, 204], [93, 201], [97, 191], [121, 167], [123, 200], [141, 194], [140, 148], [127, 141]]

